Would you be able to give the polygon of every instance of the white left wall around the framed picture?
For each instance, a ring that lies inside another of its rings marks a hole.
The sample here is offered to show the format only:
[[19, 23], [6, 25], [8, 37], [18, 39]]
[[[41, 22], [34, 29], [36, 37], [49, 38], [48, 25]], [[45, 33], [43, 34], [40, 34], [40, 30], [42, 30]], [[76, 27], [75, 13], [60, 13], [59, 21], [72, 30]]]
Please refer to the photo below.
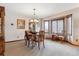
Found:
[[[25, 19], [25, 29], [17, 29], [17, 19]], [[11, 26], [11, 23], [14, 25]], [[5, 41], [23, 39], [25, 30], [28, 30], [28, 18], [22, 14], [14, 13], [5, 7]]]

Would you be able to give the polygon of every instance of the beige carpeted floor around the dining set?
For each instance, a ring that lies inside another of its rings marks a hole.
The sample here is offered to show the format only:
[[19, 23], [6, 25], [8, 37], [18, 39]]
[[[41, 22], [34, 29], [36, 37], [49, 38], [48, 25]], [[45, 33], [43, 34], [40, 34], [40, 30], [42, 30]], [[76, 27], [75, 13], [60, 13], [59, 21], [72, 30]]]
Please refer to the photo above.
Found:
[[79, 56], [79, 47], [65, 42], [45, 40], [45, 48], [39, 50], [25, 46], [25, 41], [6, 43], [6, 56]]

